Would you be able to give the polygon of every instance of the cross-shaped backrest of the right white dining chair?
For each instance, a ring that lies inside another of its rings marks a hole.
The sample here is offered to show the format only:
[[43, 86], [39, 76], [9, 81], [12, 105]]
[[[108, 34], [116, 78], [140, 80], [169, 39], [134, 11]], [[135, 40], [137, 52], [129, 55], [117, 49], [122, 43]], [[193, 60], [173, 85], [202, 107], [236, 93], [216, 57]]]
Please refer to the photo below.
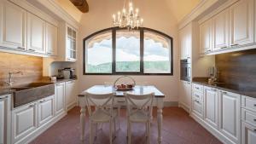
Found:
[[149, 93], [146, 95], [133, 95], [130, 93], [125, 93], [125, 102], [128, 116], [131, 116], [137, 111], [144, 111], [150, 114], [153, 107], [153, 100], [154, 93]]

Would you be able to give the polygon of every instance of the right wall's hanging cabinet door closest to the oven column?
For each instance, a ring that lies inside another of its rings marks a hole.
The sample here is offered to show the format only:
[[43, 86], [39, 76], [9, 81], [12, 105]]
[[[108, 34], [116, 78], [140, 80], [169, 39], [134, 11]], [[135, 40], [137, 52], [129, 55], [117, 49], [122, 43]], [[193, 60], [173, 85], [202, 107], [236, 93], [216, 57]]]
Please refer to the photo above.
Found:
[[212, 20], [207, 20], [200, 26], [201, 54], [212, 51]]

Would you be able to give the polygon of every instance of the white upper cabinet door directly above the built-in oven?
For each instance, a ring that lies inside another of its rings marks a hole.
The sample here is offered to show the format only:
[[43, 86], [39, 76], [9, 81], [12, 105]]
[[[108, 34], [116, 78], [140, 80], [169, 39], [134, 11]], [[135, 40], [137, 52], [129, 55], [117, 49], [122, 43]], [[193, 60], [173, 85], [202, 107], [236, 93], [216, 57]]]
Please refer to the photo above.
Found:
[[190, 26], [184, 27], [179, 32], [180, 39], [180, 58], [181, 60], [188, 59], [191, 56], [191, 29]]

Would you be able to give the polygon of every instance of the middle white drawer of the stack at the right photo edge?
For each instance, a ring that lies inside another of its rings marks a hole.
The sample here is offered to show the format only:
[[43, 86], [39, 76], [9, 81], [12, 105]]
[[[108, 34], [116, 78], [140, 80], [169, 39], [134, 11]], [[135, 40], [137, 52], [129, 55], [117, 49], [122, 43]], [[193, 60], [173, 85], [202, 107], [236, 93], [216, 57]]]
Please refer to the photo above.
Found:
[[256, 127], [256, 112], [241, 109], [241, 120]]

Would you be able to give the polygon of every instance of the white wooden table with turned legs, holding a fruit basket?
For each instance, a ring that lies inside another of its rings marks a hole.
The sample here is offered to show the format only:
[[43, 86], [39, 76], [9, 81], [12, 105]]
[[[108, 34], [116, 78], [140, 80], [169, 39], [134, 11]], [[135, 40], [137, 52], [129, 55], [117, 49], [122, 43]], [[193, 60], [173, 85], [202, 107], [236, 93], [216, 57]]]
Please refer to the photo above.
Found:
[[[79, 95], [79, 107], [81, 107], [81, 114], [80, 114], [80, 126], [81, 126], [81, 135], [80, 139], [81, 141], [84, 141], [84, 131], [85, 131], [85, 98], [84, 94], [85, 92], [89, 92], [92, 94], [107, 94], [110, 92], [114, 92], [115, 99], [122, 98], [124, 99], [124, 91], [116, 91], [116, 89], [113, 88], [113, 86], [105, 86], [105, 85], [95, 85], [91, 87], [90, 89], [84, 90], [80, 95]], [[158, 124], [158, 143], [160, 144], [162, 141], [162, 120], [163, 120], [163, 114], [162, 114], [162, 109], [164, 107], [164, 98], [165, 95], [160, 92], [159, 89], [156, 89], [154, 86], [135, 86], [133, 90], [129, 91], [130, 93], [133, 94], [148, 94], [154, 92], [154, 102], [157, 107], [157, 124]]]

